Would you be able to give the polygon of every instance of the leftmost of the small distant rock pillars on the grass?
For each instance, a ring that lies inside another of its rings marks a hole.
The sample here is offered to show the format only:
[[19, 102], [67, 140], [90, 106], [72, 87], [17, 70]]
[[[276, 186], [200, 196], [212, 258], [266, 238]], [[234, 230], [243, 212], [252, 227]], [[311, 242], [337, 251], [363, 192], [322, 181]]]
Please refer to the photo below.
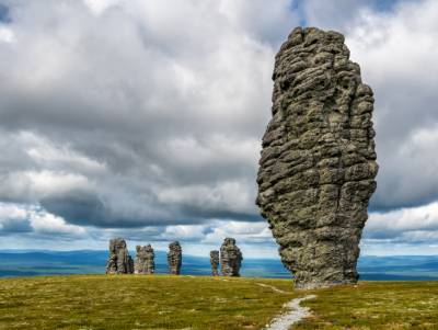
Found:
[[130, 258], [126, 241], [122, 238], [110, 240], [110, 258], [106, 262], [106, 274], [131, 274], [134, 261]]

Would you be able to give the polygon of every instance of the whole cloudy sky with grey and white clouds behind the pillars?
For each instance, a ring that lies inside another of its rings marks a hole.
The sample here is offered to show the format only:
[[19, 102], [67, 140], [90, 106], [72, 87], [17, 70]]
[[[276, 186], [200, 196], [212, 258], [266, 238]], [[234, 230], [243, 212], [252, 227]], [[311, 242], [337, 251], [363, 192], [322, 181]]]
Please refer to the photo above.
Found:
[[298, 25], [344, 33], [374, 91], [361, 253], [438, 253], [435, 0], [0, 0], [0, 249], [277, 258], [255, 178]]

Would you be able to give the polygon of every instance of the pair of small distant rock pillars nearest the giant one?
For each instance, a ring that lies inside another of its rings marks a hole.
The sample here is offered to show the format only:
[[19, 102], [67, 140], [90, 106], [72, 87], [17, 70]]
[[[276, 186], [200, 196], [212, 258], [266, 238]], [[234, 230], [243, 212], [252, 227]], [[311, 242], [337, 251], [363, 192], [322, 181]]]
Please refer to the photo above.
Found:
[[219, 260], [220, 272], [222, 276], [240, 276], [240, 268], [242, 264], [242, 252], [235, 244], [235, 239], [226, 238], [219, 251], [214, 250], [210, 252], [211, 275], [219, 275]]

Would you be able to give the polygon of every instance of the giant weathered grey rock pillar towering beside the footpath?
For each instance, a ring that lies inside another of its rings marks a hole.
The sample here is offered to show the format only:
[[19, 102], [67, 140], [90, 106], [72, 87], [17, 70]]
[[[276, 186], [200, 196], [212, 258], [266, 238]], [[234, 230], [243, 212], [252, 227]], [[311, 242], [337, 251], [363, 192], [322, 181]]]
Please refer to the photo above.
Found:
[[373, 94], [339, 33], [295, 29], [276, 56], [256, 204], [297, 288], [355, 283], [376, 190]]

